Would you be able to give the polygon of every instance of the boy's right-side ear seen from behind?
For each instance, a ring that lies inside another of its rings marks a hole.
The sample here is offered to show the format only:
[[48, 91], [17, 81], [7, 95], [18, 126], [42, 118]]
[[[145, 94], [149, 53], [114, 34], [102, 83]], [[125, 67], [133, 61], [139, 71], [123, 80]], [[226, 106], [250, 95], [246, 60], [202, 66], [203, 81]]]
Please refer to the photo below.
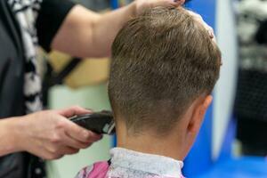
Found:
[[203, 119], [206, 114], [206, 109], [213, 101], [212, 95], [207, 95], [204, 99], [199, 98], [199, 101], [196, 103], [195, 109], [193, 110], [188, 131], [191, 134], [198, 134], [198, 131], [202, 125]]

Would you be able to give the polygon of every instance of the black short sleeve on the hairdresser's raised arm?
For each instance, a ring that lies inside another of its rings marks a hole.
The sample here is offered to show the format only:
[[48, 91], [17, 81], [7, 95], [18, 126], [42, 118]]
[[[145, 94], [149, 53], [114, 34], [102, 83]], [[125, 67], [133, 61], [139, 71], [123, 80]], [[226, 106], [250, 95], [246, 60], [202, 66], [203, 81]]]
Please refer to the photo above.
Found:
[[69, 0], [43, 0], [36, 19], [36, 30], [39, 44], [45, 51], [50, 51], [53, 37], [74, 5]]

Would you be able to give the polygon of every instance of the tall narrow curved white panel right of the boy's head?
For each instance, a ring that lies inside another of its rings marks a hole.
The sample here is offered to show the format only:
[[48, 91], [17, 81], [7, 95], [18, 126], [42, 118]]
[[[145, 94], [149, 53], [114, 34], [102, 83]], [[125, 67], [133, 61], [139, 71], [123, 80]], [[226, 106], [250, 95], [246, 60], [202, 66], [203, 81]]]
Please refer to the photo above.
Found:
[[216, 158], [232, 114], [237, 77], [237, 40], [233, 0], [217, 0], [216, 34], [223, 53], [221, 77], [214, 90], [213, 156]]

